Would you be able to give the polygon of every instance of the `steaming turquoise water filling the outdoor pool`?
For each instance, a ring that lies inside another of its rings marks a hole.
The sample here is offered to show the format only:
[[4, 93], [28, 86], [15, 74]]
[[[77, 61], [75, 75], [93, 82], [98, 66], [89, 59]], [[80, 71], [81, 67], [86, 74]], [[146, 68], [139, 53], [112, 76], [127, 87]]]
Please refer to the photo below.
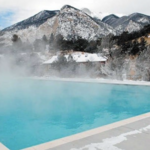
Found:
[[150, 87], [0, 81], [0, 142], [19, 150], [150, 111]]

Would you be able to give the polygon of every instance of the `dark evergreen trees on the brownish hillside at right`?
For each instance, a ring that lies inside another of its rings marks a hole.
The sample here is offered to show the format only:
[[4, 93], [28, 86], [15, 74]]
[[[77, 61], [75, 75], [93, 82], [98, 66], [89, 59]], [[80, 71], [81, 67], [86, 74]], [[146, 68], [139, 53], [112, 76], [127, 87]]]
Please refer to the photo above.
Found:
[[136, 32], [125, 31], [121, 35], [113, 36], [111, 40], [116, 41], [116, 45], [121, 49], [121, 54], [139, 55], [147, 47], [145, 38], [148, 37], [149, 33], [150, 25], [147, 25]]

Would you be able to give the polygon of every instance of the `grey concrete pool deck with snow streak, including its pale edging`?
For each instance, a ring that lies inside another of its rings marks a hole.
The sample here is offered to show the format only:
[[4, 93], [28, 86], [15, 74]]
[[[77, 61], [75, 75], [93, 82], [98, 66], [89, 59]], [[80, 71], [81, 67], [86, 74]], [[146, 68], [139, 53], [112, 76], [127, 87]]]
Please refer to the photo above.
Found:
[[147, 113], [23, 150], [148, 150], [149, 147], [150, 113]]

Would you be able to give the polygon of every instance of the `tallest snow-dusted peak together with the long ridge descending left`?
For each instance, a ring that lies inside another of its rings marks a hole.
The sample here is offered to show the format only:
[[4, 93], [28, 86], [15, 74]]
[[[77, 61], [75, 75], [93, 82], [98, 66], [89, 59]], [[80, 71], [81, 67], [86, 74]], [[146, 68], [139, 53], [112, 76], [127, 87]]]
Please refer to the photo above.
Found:
[[115, 30], [100, 19], [89, 16], [82, 10], [65, 5], [60, 11], [42, 11], [35, 16], [19, 22], [2, 31], [5, 43], [11, 43], [13, 34], [17, 34], [22, 41], [33, 42], [43, 35], [48, 38], [51, 34], [56, 37], [62, 35], [66, 40], [83, 38], [95, 40]]

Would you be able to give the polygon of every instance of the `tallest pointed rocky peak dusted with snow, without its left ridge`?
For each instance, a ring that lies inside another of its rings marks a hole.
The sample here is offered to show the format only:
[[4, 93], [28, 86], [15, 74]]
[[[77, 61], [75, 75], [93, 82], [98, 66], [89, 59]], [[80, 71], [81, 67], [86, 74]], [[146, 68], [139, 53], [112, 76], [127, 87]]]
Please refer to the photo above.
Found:
[[[111, 32], [113, 32], [113, 29]], [[97, 23], [83, 11], [65, 5], [56, 16], [55, 31], [53, 33], [55, 36], [61, 34], [66, 40], [78, 37], [95, 40], [98, 37], [108, 35], [110, 30], [106, 24]]]

